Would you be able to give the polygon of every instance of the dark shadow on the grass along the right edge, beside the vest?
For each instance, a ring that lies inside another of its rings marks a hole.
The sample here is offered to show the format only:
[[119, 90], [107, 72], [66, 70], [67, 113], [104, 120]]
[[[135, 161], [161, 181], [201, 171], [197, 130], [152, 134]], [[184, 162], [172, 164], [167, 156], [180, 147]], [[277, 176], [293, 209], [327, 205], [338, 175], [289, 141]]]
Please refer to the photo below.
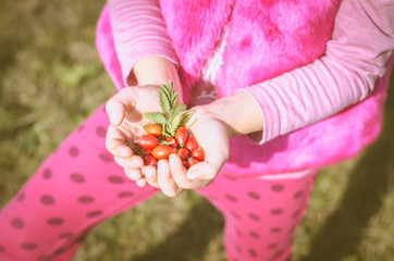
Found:
[[[394, 76], [392, 74], [392, 76]], [[371, 145], [349, 174], [349, 183], [337, 210], [327, 220], [312, 240], [310, 253], [303, 260], [343, 260], [357, 256], [362, 231], [381, 209], [389, 189], [394, 162], [394, 80], [392, 77], [385, 121], [378, 140]]]

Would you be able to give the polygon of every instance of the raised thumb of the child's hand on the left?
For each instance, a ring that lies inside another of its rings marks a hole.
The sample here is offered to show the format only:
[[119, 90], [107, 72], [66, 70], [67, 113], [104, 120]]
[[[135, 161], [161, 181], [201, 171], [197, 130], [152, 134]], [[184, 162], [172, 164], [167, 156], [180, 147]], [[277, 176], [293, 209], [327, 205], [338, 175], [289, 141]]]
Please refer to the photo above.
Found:
[[131, 109], [134, 105], [133, 102], [136, 100], [135, 96], [137, 95], [137, 91], [134, 92], [132, 94], [131, 88], [124, 88], [108, 100], [106, 103], [106, 111], [111, 125], [119, 126], [123, 122], [126, 110]]

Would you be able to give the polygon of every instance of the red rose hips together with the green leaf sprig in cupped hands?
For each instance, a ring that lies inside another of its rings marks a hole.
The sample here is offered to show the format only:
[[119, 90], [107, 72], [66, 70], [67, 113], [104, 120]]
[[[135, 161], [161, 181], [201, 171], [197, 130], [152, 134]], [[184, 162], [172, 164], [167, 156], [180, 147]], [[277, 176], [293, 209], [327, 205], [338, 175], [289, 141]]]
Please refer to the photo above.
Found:
[[169, 159], [172, 153], [181, 158], [186, 169], [204, 161], [204, 149], [185, 127], [194, 112], [184, 103], [176, 103], [177, 94], [171, 82], [160, 85], [158, 94], [161, 111], [143, 113], [150, 121], [144, 126], [147, 134], [135, 138], [128, 146], [144, 158], [146, 165], [157, 166], [158, 160]]

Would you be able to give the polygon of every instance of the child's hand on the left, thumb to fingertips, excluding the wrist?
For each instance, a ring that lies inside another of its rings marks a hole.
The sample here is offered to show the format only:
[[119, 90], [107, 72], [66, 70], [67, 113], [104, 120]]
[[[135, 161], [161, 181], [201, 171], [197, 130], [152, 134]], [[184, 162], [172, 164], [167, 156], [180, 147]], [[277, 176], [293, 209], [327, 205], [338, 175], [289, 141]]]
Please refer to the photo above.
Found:
[[145, 134], [141, 127], [146, 123], [143, 113], [160, 111], [158, 88], [158, 86], [126, 87], [106, 104], [111, 122], [106, 147], [114, 156], [115, 162], [124, 169], [125, 174], [138, 186], [146, 185], [140, 170], [144, 160], [127, 145], [134, 145], [134, 138]]

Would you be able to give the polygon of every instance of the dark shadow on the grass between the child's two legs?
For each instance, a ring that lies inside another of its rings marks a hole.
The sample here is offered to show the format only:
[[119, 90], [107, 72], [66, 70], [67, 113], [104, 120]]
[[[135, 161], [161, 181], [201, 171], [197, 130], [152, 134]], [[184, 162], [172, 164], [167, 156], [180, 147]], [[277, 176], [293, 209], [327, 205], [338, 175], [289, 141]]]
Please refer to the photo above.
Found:
[[148, 252], [133, 257], [133, 261], [202, 260], [208, 244], [223, 229], [223, 217], [209, 201], [199, 200], [177, 232]]

